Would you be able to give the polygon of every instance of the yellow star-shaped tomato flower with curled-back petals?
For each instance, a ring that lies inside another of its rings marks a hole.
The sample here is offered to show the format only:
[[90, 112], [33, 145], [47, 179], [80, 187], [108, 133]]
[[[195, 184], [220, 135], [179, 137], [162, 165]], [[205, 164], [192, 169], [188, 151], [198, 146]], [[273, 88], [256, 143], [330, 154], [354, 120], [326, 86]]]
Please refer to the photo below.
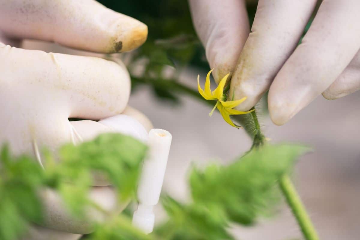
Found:
[[224, 120], [227, 123], [229, 123], [233, 127], [239, 128], [240, 126], [235, 125], [233, 123], [233, 121], [231, 121], [230, 115], [246, 114], [246, 113], [252, 112], [253, 110], [242, 112], [242, 111], [233, 109], [237, 105], [239, 105], [240, 103], [245, 101], [246, 97], [239, 99], [239, 100], [235, 100], [235, 101], [224, 101], [225, 95], [224, 95], [223, 91], [224, 91], [224, 87], [226, 84], [226, 80], [228, 79], [230, 73], [226, 74], [226, 76], [221, 79], [221, 81], [219, 82], [219, 85], [216, 87], [216, 89], [214, 91], [211, 91], [211, 89], [210, 89], [210, 74], [211, 74], [212, 70], [210, 70], [210, 72], [207, 73], [204, 90], [202, 90], [202, 88], [200, 87], [200, 83], [199, 83], [200, 76], [198, 75], [198, 90], [199, 90], [200, 95], [206, 100], [216, 100], [215, 107], [209, 113], [209, 116], [211, 117], [215, 108], [217, 108], [217, 109], [219, 109], [221, 116], [224, 118]]

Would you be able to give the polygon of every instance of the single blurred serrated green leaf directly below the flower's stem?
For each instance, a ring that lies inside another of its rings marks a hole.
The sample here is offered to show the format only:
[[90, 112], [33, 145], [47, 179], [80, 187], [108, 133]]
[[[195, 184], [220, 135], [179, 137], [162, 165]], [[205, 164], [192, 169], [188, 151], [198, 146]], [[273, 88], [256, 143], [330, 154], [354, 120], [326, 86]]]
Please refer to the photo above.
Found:
[[194, 168], [190, 188], [194, 201], [222, 206], [231, 221], [251, 224], [266, 216], [280, 198], [276, 182], [309, 148], [297, 145], [267, 145], [253, 149], [228, 166]]

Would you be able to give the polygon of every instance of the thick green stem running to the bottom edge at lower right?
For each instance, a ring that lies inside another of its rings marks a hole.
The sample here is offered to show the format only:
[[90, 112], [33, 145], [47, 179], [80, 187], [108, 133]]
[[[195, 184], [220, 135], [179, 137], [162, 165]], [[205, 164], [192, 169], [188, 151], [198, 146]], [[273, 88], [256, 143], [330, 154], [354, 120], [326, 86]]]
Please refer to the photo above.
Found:
[[285, 199], [291, 208], [298, 225], [301, 228], [301, 232], [306, 240], [318, 240], [319, 237], [316, 234], [315, 228], [311, 223], [310, 217], [306, 212], [304, 205], [301, 202], [299, 195], [296, 192], [294, 185], [292, 184], [288, 175], [284, 175], [280, 179], [280, 189], [282, 190]]

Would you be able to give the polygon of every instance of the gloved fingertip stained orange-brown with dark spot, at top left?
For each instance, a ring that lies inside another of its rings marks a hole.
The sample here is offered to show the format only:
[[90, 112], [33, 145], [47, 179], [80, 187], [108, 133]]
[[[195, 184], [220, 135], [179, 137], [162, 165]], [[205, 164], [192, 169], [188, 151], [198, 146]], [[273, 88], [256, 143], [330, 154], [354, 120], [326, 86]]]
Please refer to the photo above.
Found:
[[95, 0], [0, 0], [0, 30], [101, 53], [135, 49], [148, 34], [144, 23]]

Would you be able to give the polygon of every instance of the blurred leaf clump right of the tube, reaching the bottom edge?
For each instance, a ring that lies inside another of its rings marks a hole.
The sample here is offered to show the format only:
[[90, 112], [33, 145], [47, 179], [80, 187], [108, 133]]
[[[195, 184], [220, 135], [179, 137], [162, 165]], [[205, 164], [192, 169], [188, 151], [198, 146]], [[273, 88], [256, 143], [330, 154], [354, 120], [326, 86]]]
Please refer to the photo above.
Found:
[[181, 204], [166, 196], [163, 206], [170, 219], [157, 234], [165, 239], [233, 239], [230, 222], [249, 225], [275, 212], [281, 193], [279, 179], [291, 171], [309, 148], [265, 145], [254, 148], [228, 166], [210, 164], [193, 168], [189, 184], [192, 203]]

